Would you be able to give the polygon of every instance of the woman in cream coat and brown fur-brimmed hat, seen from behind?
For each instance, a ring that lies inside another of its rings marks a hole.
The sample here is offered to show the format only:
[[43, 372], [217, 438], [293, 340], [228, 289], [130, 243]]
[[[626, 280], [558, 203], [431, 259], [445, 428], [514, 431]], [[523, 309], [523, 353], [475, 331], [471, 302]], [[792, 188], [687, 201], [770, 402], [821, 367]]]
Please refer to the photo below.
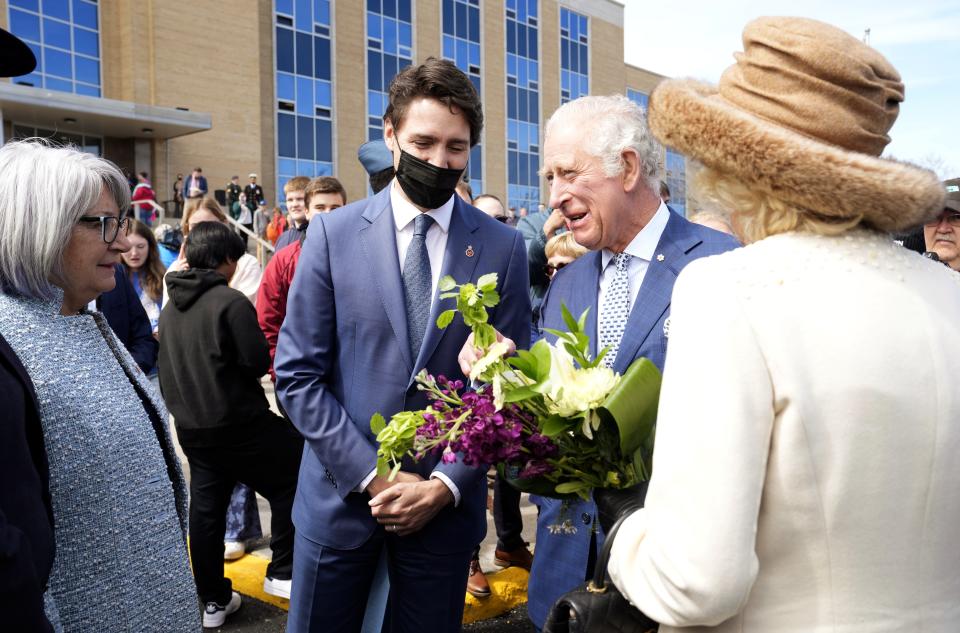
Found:
[[650, 99], [750, 244], [676, 282], [654, 475], [608, 570], [664, 633], [960, 631], [960, 275], [889, 237], [943, 191], [879, 158], [903, 84], [877, 51], [798, 18], [743, 41], [718, 87]]

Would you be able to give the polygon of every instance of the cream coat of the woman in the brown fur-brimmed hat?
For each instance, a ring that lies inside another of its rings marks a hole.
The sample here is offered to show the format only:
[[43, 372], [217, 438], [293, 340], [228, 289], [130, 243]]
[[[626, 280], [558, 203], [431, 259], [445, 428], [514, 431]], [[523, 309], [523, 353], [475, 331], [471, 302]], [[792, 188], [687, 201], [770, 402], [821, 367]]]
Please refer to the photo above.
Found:
[[609, 570], [662, 633], [960, 631], [960, 275], [869, 232], [684, 269]]

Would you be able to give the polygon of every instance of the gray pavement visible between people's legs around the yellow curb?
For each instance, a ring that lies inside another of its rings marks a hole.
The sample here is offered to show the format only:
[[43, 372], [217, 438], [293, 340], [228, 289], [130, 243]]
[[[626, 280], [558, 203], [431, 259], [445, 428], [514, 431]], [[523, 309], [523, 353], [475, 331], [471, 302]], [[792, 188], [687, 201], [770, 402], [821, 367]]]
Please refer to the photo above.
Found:
[[[262, 384], [270, 406], [276, 411], [273, 383], [269, 378], [265, 377]], [[176, 431], [174, 431], [174, 440], [176, 444]], [[187, 464], [186, 456], [180, 450], [179, 444], [176, 445], [176, 449], [180, 457], [180, 462], [183, 465], [184, 474], [189, 481], [190, 468]], [[260, 510], [260, 525], [264, 532], [264, 538], [250, 543], [248, 551], [256, 553], [258, 556], [270, 558], [270, 505], [266, 499], [259, 495], [257, 496], [257, 505]], [[534, 536], [536, 535], [537, 508], [530, 503], [526, 494], [521, 497], [520, 511], [523, 515], [523, 538], [532, 544], [534, 542]], [[494, 572], [499, 569], [499, 567], [493, 563], [496, 546], [497, 533], [493, 525], [493, 514], [492, 512], [487, 512], [487, 536], [483, 543], [480, 544], [480, 566], [485, 572]], [[261, 602], [250, 596], [243, 596], [243, 606], [237, 613], [227, 619], [223, 627], [219, 629], [204, 629], [204, 631], [222, 633], [281, 633], [286, 630], [286, 624], [287, 612], [283, 609]], [[496, 618], [468, 624], [463, 627], [463, 630], [468, 632], [482, 631], [484, 633], [533, 633], [536, 631], [533, 624], [527, 619], [526, 605], [521, 605]]]

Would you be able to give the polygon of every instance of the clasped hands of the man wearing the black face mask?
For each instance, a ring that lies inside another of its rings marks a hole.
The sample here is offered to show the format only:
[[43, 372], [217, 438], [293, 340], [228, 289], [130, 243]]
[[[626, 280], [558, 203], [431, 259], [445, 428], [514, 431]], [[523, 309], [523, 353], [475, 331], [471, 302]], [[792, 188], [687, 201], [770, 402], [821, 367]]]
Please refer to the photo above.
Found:
[[400, 471], [390, 481], [377, 475], [367, 485], [370, 513], [388, 532], [407, 536], [419, 531], [454, 497], [439, 479]]

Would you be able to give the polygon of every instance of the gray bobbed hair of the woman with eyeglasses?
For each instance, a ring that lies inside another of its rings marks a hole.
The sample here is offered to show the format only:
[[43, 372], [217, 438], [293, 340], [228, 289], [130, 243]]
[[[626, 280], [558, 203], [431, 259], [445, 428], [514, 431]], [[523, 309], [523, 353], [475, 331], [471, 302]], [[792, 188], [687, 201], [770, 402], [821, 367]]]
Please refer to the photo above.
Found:
[[0, 147], [0, 289], [52, 299], [73, 227], [104, 187], [123, 214], [130, 189], [110, 161], [44, 139]]

